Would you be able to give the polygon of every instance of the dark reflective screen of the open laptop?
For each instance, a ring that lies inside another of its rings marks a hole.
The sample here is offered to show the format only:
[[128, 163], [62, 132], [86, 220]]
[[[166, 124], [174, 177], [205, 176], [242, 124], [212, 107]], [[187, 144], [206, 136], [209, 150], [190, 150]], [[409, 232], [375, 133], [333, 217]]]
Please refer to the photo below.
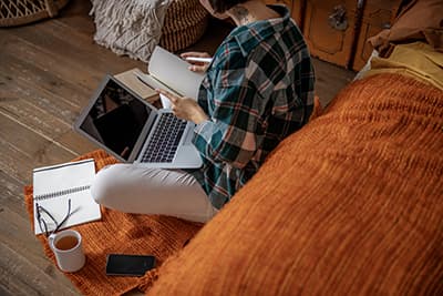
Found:
[[128, 160], [150, 113], [146, 104], [109, 80], [80, 129]]

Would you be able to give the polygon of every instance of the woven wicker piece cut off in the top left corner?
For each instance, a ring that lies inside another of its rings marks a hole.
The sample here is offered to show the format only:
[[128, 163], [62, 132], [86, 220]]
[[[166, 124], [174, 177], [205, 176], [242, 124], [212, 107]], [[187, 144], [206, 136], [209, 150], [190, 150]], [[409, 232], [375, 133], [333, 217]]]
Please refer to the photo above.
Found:
[[0, 0], [0, 27], [53, 18], [69, 0]]

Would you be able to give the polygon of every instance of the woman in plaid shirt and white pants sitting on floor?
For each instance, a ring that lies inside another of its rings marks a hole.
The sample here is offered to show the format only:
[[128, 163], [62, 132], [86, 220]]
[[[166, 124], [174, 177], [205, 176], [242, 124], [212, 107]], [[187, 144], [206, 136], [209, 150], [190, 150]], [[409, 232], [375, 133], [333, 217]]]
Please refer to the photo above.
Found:
[[[269, 152], [312, 112], [315, 75], [299, 29], [285, 7], [261, 0], [200, 0], [237, 25], [206, 70], [198, 102], [157, 90], [176, 116], [196, 123], [193, 143], [203, 166], [194, 171], [115, 164], [99, 172], [95, 201], [130, 213], [207, 222], [246, 184]], [[185, 53], [208, 57], [205, 53]]]

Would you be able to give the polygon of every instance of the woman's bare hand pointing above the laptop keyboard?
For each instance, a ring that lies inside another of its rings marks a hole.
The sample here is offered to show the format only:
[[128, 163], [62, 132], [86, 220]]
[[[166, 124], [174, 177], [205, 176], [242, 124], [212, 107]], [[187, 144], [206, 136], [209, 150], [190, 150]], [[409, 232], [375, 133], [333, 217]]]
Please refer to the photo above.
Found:
[[169, 99], [172, 110], [177, 118], [192, 121], [195, 124], [208, 120], [205, 111], [198, 105], [195, 100], [185, 96], [182, 98], [165, 90], [157, 89], [155, 91]]

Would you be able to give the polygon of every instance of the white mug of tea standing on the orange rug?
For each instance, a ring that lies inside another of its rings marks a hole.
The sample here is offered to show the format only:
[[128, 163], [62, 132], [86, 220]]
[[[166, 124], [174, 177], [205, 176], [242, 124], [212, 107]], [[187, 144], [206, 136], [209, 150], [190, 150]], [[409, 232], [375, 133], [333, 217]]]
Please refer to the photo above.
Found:
[[66, 229], [49, 236], [49, 246], [54, 252], [56, 265], [62, 272], [80, 271], [86, 261], [79, 232]]

